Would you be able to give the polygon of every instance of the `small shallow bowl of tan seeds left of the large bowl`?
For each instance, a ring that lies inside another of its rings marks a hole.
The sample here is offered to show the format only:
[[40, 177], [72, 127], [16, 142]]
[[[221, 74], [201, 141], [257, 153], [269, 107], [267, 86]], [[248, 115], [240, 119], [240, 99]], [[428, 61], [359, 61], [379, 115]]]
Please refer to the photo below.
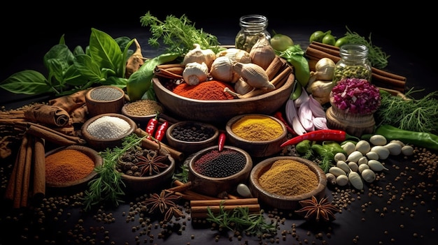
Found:
[[164, 107], [153, 100], [139, 100], [125, 103], [122, 107], [122, 114], [136, 121], [137, 123], [147, 123], [149, 119], [162, 114]]

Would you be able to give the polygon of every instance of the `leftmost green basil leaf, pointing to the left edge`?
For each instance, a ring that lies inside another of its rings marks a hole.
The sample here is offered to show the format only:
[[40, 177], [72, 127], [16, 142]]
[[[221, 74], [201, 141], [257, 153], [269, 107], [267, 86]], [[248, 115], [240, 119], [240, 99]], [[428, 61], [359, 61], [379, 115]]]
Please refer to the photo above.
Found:
[[44, 94], [51, 91], [43, 74], [36, 70], [22, 70], [1, 82], [0, 87], [15, 94]]

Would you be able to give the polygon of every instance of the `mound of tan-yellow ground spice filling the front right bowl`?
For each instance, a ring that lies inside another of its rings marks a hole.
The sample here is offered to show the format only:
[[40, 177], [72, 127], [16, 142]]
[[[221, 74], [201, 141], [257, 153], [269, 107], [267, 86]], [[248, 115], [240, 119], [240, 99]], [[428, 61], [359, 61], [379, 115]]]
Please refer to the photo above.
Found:
[[304, 163], [282, 159], [259, 177], [262, 188], [278, 195], [302, 195], [318, 186], [315, 173]]

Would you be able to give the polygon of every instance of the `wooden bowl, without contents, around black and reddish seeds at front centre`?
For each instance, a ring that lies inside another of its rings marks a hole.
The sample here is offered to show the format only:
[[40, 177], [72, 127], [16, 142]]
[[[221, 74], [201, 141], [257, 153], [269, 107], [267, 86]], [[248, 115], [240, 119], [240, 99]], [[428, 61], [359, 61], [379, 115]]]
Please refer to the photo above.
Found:
[[218, 151], [218, 147], [208, 147], [206, 149], [198, 151], [197, 153], [193, 154], [188, 163], [189, 179], [190, 181], [192, 181], [193, 191], [196, 191], [197, 193], [202, 193], [204, 195], [216, 197], [220, 193], [235, 191], [238, 184], [246, 183], [248, 181], [251, 168], [253, 168], [253, 159], [248, 154], [248, 152], [243, 151], [242, 149], [239, 149], [237, 147], [227, 145], [224, 146], [223, 151], [236, 151], [237, 154], [241, 154], [241, 156], [245, 157], [246, 163], [243, 166], [242, 170], [234, 175], [229, 175], [227, 177], [209, 177], [197, 172], [197, 170], [195, 170], [196, 162], [206, 154], [209, 154], [211, 151]]

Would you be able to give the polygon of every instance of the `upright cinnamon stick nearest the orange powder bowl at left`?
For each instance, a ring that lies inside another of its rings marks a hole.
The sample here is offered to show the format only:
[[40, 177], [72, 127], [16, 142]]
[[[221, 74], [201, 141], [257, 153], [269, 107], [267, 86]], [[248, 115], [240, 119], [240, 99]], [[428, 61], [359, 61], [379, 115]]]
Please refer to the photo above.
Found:
[[44, 140], [36, 137], [34, 139], [34, 186], [33, 197], [42, 200], [45, 196], [45, 149]]

